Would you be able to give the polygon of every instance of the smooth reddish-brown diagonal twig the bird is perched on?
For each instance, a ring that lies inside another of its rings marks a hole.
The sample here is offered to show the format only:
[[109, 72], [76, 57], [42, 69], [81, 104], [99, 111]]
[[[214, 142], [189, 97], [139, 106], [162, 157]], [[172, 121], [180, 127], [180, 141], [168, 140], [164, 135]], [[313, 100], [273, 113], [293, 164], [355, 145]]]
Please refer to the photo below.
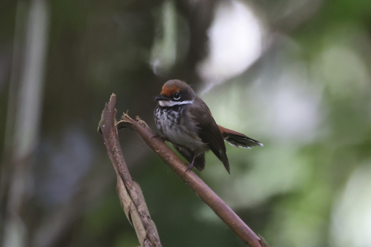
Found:
[[139, 117], [131, 119], [128, 114], [122, 116], [117, 128], [128, 127], [136, 131], [147, 145], [190, 187], [209, 207], [250, 247], [262, 247], [260, 238], [210, 189], [193, 171], [187, 171], [187, 166], [163, 142], [154, 136], [152, 130]]

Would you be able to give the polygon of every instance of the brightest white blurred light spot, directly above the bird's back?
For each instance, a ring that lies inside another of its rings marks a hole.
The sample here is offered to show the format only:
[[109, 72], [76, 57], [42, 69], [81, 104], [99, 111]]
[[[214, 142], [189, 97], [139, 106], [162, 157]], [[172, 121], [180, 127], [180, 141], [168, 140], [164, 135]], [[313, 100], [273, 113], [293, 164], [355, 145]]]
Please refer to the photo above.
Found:
[[201, 78], [214, 83], [243, 73], [262, 52], [262, 26], [240, 1], [222, 2], [208, 31], [209, 56], [198, 64]]

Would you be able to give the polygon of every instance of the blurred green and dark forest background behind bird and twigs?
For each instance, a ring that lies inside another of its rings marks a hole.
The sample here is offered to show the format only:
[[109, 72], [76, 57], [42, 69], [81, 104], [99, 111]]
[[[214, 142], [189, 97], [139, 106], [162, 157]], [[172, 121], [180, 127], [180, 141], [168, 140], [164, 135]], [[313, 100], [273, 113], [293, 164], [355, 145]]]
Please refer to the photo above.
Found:
[[[371, 246], [371, 1], [0, 2], [0, 244], [134, 247], [98, 121], [111, 93], [153, 130], [168, 79], [227, 145], [199, 176], [276, 247]], [[130, 130], [163, 246], [244, 246]]]

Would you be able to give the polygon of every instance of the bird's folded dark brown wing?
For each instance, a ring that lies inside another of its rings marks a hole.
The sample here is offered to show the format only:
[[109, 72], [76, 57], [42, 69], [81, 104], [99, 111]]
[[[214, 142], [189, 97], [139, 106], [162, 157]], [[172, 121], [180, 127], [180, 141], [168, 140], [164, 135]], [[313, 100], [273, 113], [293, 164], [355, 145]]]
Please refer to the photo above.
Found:
[[223, 162], [224, 167], [230, 173], [229, 162], [226, 154], [226, 146], [218, 125], [206, 103], [196, 96], [195, 102], [190, 106], [190, 114], [194, 117], [199, 127], [199, 136], [207, 143], [210, 150]]

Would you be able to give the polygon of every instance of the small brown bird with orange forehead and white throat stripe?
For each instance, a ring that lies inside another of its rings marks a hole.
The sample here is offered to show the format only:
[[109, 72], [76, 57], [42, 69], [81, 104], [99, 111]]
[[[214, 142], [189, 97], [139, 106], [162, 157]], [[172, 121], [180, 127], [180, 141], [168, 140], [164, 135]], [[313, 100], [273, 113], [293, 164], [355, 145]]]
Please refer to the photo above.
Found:
[[210, 150], [230, 173], [224, 141], [235, 147], [263, 146], [244, 134], [216, 124], [209, 107], [184, 81], [169, 80], [159, 96], [154, 111], [156, 127], [165, 140], [188, 161], [187, 170], [205, 168], [205, 152]]

